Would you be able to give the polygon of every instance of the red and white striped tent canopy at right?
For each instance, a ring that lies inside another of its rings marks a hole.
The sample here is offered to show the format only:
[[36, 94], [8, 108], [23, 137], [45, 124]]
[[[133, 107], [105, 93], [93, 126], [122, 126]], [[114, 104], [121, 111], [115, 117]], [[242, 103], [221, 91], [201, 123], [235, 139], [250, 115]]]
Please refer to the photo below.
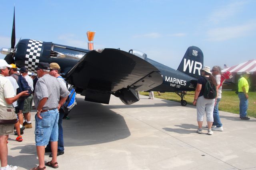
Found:
[[230, 71], [231, 73], [241, 74], [243, 71], [248, 71], [251, 74], [256, 74], [256, 59], [246, 61], [244, 63], [234, 65], [232, 67], [223, 69], [222, 72]]

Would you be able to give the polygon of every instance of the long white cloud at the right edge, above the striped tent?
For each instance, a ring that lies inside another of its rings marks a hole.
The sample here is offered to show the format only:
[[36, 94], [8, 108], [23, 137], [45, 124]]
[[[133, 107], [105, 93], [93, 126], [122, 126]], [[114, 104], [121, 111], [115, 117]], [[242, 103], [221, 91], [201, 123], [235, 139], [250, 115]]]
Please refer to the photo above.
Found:
[[[253, 22], [255, 23], [255, 22]], [[241, 26], [215, 28], [207, 32], [208, 41], [225, 41], [251, 34], [256, 29], [256, 24], [244, 24]]]

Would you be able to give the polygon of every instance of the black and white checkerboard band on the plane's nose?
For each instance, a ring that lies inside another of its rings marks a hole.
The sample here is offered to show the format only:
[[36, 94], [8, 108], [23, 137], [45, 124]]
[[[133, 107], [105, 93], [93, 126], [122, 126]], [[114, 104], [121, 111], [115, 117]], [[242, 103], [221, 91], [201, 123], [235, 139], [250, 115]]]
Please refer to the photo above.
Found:
[[42, 55], [42, 41], [29, 40], [26, 50], [25, 67], [28, 71], [35, 72], [35, 67], [39, 63], [40, 55]]

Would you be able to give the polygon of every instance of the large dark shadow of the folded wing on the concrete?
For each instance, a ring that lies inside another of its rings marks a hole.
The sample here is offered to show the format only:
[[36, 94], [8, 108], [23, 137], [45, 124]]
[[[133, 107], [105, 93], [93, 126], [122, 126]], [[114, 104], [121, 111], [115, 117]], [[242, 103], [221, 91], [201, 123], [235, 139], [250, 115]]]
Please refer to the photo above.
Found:
[[120, 140], [130, 136], [124, 117], [112, 107], [77, 98], [77, 105], [62, 122], [65, 146], [84, 146]]

